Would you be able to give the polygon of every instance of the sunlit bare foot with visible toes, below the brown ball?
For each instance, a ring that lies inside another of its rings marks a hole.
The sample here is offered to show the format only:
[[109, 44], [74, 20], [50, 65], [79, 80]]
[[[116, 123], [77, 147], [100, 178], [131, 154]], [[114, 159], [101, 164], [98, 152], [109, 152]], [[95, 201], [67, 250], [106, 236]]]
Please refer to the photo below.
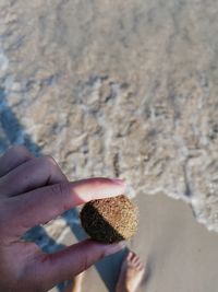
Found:
[[130, 252], [123, 260], [116, 292], [136, 292], [145, 272], [140, 257]]

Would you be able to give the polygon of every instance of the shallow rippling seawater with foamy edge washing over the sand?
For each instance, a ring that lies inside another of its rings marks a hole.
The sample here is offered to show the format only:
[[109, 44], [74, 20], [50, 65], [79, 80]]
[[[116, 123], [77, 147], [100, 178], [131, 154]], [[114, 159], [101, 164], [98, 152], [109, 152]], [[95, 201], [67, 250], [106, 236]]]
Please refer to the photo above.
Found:
[[0, 1], [0, 151], [120, 176], [218, 231], [215, 0]]

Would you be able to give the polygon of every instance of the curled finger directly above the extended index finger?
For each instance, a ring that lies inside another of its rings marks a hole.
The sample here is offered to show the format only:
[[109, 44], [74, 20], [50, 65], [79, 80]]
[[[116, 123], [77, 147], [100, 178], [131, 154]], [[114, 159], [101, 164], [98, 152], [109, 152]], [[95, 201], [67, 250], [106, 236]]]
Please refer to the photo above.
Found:
[[32, 159], [0, 178], [0, 192], [12, 197], [37, 187], [66, 182], [56, 161], [50, 156]]

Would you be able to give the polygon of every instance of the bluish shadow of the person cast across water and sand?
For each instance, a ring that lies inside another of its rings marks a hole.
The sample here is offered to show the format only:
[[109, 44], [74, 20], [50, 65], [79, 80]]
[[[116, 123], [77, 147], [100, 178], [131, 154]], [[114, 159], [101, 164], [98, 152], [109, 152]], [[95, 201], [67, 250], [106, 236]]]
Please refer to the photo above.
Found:
[[[0, 152], [3, 153], [9, 147], [14, 144], [23, 144], [28, 148], [36, 156], [43, 154], [43, 150], [35, 144], [31, 137], [25, 133], [25, 129], [14, 115], [13, 110], [8, 106], [4, 89], [0, 87]], [[78, 212], [76, 209], [71, 209], [62, 214], [66, 224], [71, 227], [72, 233], [78, 241], [83, 241], [86, 235], [81, 225], [72, 223], [78, 219]], [[46, 230], [38, 225], [29, 230], [25, 235], [25, 240], [33, 241], [46, 253], [53, 253], [64, 248], [64, 245], [57, 243], [51, 238]], [[117, 282], [120, 266], [123, 260], [126, 250], [120, 252], [117, 255], [109, 256], [99, 262], [97, 262], [96, 269], [105, 282], [108, 291], [114, 291], [114, 284]], [[60, 283], [58, 285], [59, 291], [69, 284], [69, 282]]]

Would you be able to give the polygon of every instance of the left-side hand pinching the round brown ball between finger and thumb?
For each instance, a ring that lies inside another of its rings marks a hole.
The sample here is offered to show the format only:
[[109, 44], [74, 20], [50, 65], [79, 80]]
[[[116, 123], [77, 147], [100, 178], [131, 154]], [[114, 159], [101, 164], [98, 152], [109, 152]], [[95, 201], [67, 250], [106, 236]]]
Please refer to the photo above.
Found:
[[0, 159], [0, 291], [48, 291], [119, 252], [119, 244], [86, 240], [48, 255], [21, 236], [75, 206], [123, 192], [120, 179], [70, 183], [52, 157], [34, 157], [23, 147], [10, 149]]

